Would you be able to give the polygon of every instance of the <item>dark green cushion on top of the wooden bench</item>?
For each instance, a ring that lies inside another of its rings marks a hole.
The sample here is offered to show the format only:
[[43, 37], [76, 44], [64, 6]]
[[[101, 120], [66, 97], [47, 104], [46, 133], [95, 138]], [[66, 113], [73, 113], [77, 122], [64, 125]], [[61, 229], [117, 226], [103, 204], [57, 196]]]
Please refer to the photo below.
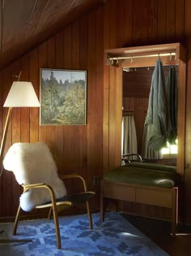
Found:
[[[152, 167], [155, 167], [155, 169]], [[162, 170], [159, 168], [162, 168]], [[175, 167], [164, 165], [159, 167], [159, 164], [150, 163], [143, 164], [142, 166], [142, 163], [129, 163], [124, 167], [116, 167], [105, 173], [104, 180], [171, 189], [180, 184], [181, 177], [176, 172]]]

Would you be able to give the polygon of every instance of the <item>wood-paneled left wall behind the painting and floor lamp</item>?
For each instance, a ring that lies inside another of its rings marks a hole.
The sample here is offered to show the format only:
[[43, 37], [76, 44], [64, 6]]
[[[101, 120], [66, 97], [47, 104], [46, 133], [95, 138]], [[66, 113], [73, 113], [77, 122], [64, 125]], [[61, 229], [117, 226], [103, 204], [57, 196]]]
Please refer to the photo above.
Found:
[[[93, 186], [93, 176], [102, 175], [103, 164], [103, 11], [99, 7], [84, 15], [0, 72], [2, 135], [7, 112], [2, 105], [15, 79], [13, 75], [22, 71], [21, 80], [32, 81], [39, 96], [40, 67], [87, 70], [87, 124], [40, 126], [38, 108], [14, 108], [5, 152], [15, 142], [44, 141], [53, 153], [59, 174], [80, 174], [88, 188], [96, 192], [99, 187]], [[76, 184], [70, 184], [70, 192], [76, 189]], [[0, 216], [15, 215], [20, 187], [10, 171], [0, 176], [0, 193]], [[97, 193], [93, 208], [99, 206]]]

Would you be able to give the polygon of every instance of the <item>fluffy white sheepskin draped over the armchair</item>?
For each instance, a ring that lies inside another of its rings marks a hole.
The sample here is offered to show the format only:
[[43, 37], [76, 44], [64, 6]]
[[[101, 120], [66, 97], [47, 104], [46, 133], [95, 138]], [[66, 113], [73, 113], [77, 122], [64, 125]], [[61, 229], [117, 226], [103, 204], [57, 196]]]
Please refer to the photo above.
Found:
[[[42, 142], [15, 143], [6, 153], [3, 166], [13, 171], [19, 184], [49, 184], [56, 198], [66, 195], [66, 187], [57, 176], [57, 166], [49, 147]], [[48, 189], [30, 189], [20, 197], [20, 206], [25, 211], [51, 200]]]

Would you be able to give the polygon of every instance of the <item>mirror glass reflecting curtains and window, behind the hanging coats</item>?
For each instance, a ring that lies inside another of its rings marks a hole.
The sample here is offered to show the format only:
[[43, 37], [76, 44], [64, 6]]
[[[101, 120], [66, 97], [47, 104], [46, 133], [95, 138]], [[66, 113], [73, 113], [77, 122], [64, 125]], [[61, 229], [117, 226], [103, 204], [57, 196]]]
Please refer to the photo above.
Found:
[[[165, 91], [171, 105], [176, 106], [174, 101], [174, 92], [172, 98], [169, 97], [168, 77], [172, 66], [163, 66], [165, 81]], [[178, 66], [175, 67], [176, 80], [178, 80]], [[177, 139], [167, 140], [166, 146], [160, 147], [161, 150], [155, 150], [155, 147], [149, 145], [149, 132], [146, 123], [146, 115], [149, 106], [149, 97], [151, 93], [151, 82], [155, 67], [124, 67], [123, 68], [123, 103], [122, 103], [122, 127], [121, 127], [121, 154], [135, 153], [140, 154], [143, 162], [162, 163], [176, 165]], [[176, 97], [177, 98], [177, 97]], [[174, 107], [176, 113], [169, 111], [170, 116], [177, 115], [177, 107]], [[166, 113], [167, 114], [167, 113]], [[174, 118], [172, 118], [174, 120]], [[172, 126], [174, 127], [174, 121]], [[177, 122], [176, 122], [177, 124]], [[170, 124], [168, 124], [168, 128]]]

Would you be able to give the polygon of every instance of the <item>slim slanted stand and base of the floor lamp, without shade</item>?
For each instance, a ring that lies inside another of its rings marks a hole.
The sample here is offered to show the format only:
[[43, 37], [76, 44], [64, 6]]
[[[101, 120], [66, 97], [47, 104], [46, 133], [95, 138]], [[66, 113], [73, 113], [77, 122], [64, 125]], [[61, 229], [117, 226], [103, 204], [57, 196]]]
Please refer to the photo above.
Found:
[[[21, 72], [19, 72], [19, 76], [18, 76], [18, 80], [20, 79], [21, 76]], [[5, 124], [5, 128], [2, 134], [2, 144], [1, 144], [1, 148], [0, 148], [0, 163], [2, 164], [2, 158], [3, 158], [3, 152], [5, 149], [5, 144], [6, 144], [6, 135], [7, 135], [7, 131], [9, 128], [9, 123], [10, 123], [10, 119], [11, 119], [11, 114], [12, 114], [12, 107], [9, 107], [8, 113], [6, 115], [6, 124]], [[2, 234], [4, 232], [4, 230], [0, 230], [0, 234]], [[4, 243], [15, 243], [15, 242], [19, 242], [19, 243], [23, 243], [23, 242], [31, 242], [32, 240], [30, 239], [0, 239], [0, 244], [4, 244]]]

